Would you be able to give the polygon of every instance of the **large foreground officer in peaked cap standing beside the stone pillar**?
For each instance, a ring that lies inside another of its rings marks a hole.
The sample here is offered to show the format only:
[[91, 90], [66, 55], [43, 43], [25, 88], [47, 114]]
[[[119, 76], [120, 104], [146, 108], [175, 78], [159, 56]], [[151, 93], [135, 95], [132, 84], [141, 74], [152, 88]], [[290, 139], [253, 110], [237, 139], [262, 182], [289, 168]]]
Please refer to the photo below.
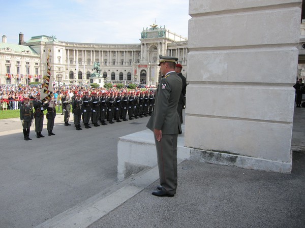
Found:
[[173, 197], [177, 188], [177, 139], [181, 129], [177, 112], [182, 80], [175, 72], [178, 58], [160, 55], [161, 79], [155, 96], [155, 110], [147, 127], [154, 132], [161, 186], [152, 194]]

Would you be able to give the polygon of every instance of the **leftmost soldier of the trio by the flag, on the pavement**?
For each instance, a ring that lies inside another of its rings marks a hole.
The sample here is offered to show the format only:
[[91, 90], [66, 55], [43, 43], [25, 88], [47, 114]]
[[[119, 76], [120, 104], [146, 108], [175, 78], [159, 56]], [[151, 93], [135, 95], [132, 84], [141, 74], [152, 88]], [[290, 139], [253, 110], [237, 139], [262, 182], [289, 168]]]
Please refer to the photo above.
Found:
[[33, 107], [29, 103], [28, 97], [25, 97], [23, 105], [20, 106], [20, 120], [23, 126], [23, 136], [24, 140], [32, 140], [29, 138], [29, 128], [32, 125], [34, 119]]

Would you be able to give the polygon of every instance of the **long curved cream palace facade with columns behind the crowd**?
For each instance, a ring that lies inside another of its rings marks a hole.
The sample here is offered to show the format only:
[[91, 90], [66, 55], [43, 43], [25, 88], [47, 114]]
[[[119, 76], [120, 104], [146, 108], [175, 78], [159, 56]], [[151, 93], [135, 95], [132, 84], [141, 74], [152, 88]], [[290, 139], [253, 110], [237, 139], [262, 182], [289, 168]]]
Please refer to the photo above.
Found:
[[[141, 32], [140, 44], [90, 44], [59, 41], [55, 37], [36, 36], [19, 44], [0, 43], [0, 84], [42, 82], [46, 61], [50, 55], [54, 83], [89, 85], [123, 83], [156, 85], [161, 77], [159, 55], [179, 58], [187, 74], [187, 38], [164, 27], [150, 25]], [[93, 74], [94, 63], [100, 64], [100, 74]]]

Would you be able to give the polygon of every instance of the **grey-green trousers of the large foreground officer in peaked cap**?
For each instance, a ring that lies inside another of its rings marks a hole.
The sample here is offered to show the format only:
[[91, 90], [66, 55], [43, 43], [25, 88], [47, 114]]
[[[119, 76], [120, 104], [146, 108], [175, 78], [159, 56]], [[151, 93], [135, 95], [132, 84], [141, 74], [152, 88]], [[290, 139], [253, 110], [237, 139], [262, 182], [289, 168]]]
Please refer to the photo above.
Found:
[[160, 142], [155, 136], [160, 184], [168, 194], [175, 194], [178, 184], [177, 142], [178, 134], [162, 135]]

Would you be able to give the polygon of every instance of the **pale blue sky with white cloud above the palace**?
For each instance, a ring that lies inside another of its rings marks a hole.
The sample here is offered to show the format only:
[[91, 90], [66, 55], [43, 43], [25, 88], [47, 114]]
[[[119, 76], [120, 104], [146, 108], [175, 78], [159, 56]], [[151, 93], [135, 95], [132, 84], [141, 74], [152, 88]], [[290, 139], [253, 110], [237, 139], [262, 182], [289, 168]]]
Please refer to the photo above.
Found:
[[[155, 23], [188, 37], [188, 0], [1, 0], [1, 37], [18, 44], [31, 37], [59, 41], [138, 44], [143, 27]], [[0, 40], [2, 42], [2, 40]]]

